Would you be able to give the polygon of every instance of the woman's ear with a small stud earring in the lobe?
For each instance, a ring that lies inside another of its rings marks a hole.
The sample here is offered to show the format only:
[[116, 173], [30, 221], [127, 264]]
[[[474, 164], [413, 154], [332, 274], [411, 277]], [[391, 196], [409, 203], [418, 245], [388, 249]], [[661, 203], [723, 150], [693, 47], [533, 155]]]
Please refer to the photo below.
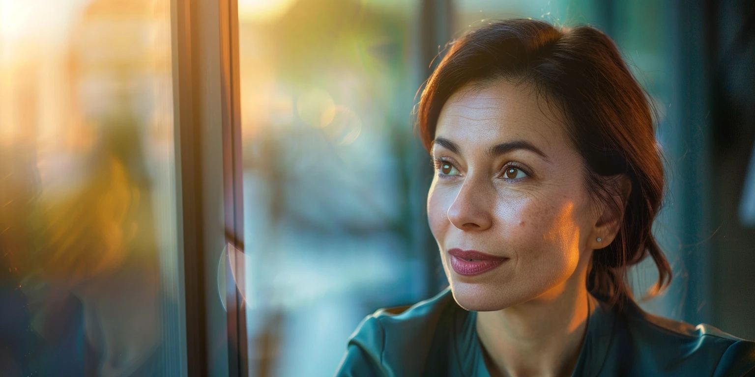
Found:
[[626, 174], [606, 177], [604, 184], [608, 198], [606, 202], [598, 204], [599, 216], [587, 238], [587, 247], [592, 250], [607, 247], [614, 241], [632, 193], [632, 180]]

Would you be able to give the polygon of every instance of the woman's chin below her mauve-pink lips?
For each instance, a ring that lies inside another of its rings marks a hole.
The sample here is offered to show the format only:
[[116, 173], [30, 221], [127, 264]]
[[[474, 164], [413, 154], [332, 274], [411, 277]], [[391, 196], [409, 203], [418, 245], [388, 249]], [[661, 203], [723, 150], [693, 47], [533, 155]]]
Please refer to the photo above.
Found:
[[499, 311], [530, 299], [513, 287], [460, 280], [451, 280], [451, 293], [458, 305], [469, 311]]

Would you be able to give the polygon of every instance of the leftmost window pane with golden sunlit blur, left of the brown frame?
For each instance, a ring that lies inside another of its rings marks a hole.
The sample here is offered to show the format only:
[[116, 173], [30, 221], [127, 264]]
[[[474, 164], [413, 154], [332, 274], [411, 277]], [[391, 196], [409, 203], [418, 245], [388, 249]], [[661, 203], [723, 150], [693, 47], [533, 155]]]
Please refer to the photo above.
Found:
[[169, 0], [0, 0], [0, 370], [181, 375]]

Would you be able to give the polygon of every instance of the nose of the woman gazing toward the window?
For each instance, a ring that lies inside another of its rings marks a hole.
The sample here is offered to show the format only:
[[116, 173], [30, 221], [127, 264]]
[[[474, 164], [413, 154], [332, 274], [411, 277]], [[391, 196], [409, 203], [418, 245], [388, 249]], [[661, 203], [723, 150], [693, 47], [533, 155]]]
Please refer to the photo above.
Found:
[[462, 231], [484, 231], [493, 225], [492, 201], [495, 192], [484, 182], [475, 182], [467, 176], [459, 189], [451, 207], [448, 207], [448, 220]]

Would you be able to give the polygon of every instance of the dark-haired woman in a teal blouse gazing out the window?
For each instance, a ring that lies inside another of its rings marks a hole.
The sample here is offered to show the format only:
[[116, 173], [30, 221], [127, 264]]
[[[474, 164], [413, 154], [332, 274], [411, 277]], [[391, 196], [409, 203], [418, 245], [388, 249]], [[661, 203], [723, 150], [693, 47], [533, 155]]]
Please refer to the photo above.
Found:
[[418, 127], [427, 214], [451, 283], [377, 311], [338, 375], [755, 375], [755, 342], [640, 310], [664, 172], [651, 109], [613, 41], [538, 20], [462, 37], [430, 76]]

